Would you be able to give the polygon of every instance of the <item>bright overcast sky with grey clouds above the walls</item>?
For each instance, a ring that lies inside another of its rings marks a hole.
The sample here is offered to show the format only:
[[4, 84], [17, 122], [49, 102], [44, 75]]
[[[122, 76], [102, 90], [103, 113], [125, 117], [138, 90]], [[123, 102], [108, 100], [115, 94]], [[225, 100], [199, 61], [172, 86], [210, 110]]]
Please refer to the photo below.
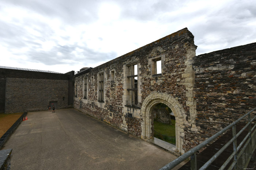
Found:
[[256, 0], [1, 0], [0, 66], [96, 67], [187, 27], [196, 55], [256, 42]]

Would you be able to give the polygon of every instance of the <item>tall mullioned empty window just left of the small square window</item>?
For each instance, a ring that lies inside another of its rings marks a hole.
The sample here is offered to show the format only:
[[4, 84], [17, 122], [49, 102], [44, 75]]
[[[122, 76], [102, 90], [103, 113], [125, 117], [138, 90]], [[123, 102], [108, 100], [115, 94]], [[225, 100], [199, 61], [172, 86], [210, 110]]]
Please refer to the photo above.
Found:
[[128, 105], [138, 106], [138, 64], [132, 64], [127, 69]]

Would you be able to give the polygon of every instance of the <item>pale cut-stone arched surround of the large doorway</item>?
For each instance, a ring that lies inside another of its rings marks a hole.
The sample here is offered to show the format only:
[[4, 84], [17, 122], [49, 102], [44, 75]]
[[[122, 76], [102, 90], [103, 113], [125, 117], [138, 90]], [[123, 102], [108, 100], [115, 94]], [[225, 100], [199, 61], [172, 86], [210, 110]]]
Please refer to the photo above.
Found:
[[180, 153], [185, 153], [184, 149], [182, 149], [182, 145], [184, 144], [184, 120], [185, 120], [185, 111], [180, 103], [173, 98], [173, 96], [166, 93], [153, 92], [146, 97], [144, 100], [141, 113], [142, 113], [142, 135], [141, 138], [152, 138], [152, 130], [151, 130], [151, 110], [158, 103], [163, 103], [168, 106], [172, 111], [176, 119], [175, 127], [176, 127], [176, 151]]

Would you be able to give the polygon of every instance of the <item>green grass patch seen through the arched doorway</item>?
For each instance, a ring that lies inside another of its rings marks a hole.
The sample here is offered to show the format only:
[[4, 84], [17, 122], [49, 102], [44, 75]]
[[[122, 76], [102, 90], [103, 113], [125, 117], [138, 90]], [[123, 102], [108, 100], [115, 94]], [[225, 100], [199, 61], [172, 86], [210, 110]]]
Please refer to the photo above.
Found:
[[176, 144], [175, 120], [171, 120], [171, 121], [172, 121], [172, 125], [154, 121], [154, 130], [155, 130], [154, 137], [175, 145]]

